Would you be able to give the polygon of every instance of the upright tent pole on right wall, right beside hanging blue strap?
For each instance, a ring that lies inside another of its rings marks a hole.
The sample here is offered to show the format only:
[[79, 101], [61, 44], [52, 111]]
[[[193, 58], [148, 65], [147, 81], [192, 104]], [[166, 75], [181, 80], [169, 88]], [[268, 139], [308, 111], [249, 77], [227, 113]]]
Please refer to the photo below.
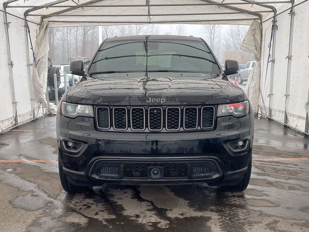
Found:
[[271, 70], [270, 70], [270, 86], [269, 86], [269, 108], [268, 108], [268, 116], [273, 117], [273, 81], [274, 81], [274, 74], [275, 74], [275, 60], [276, 60], [276, 40], [277, 40], [277, 16], [274, 17], [274, 24], [273, 24], [273, 44], [272, 44], [272, 55], [271, 55]]

